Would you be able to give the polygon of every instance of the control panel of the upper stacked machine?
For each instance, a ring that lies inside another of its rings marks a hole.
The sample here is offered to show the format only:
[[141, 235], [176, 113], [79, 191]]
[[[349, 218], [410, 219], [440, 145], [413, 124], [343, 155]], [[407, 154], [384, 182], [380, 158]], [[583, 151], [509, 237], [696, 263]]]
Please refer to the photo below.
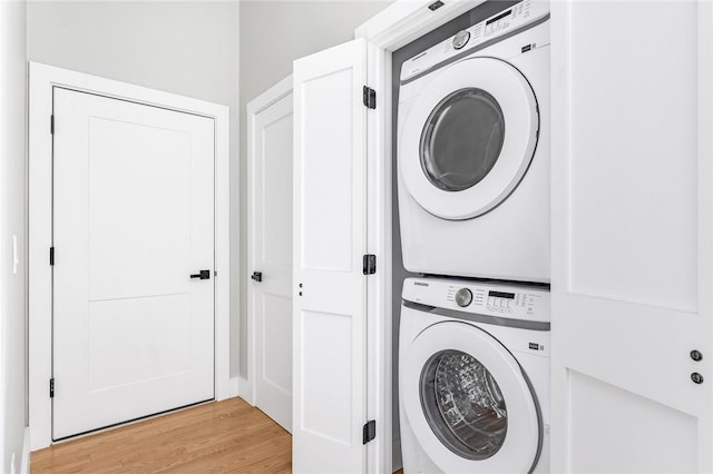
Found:
[[[401, 66], [401, 80], [410, 79], [439, 62], [459, 55], [462, 51], [470, 50], [478, 45], [487, 41], [488, 45], [490, 45], [489, 41], [545, 18], [547, 14], [549, 14], [549, 2], [522, 0], [507, 10], [502, 10], [470, 28], [461, 30], [447, 40], [403, 62], [403, 66]], [[549, 31], [549, 28], [546, 28], [546, 30]], [[541, 43], [548, 42], [549, 37], [541, 39]], [[484, 47], [488, 45], [484, 45]]]

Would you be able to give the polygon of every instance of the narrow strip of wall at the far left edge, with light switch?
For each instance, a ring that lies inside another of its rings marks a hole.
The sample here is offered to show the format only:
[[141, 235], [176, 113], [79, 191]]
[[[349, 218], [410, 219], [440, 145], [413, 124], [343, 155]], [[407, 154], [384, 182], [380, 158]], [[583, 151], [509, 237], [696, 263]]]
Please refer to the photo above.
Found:
[[[25, 1], [0, 1], [0, 472], [20, 471], [26, 409]], [[12, 235], [19, 266], [12, 271]]]

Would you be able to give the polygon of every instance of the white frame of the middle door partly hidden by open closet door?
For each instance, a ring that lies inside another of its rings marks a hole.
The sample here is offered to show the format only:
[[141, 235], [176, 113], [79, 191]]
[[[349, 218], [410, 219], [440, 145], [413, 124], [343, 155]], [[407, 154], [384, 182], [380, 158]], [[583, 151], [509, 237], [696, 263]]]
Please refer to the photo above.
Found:
[[[247, 274], [251, 274], [255, 268], [255, 258], [253, 256], [253, 249], [255, 248], [255, 228], [253, 219], [255, 218], [255, 210], [253, 209], [254, 199], [252, 198], [255, 190], [255, 176], [254, 174], [254, 160], [255, 156], [255, 120], [257, 115], [267, 109], [275, 102], [284, 99], [292, 93], [292, 75], [282, 79], [280, 82], [270, 87], [260, 96], [247, 102], [246, 110], [246, 126], [247, 126]], [[292, 169], [292, 164], [290, 164]], [[245, 278], [248, 278], [247, 274]], [[250, 280], [248, 280], [250, 284]], [[292, 317], [292, 316], [291, 316]], [[255, 334], [255, 288], [250, 285], [247, 288], [247, 378], [241, 379], [240, 395], [245, 398], [251, 405], [255, 405], [255, 340], [257, 334]]]

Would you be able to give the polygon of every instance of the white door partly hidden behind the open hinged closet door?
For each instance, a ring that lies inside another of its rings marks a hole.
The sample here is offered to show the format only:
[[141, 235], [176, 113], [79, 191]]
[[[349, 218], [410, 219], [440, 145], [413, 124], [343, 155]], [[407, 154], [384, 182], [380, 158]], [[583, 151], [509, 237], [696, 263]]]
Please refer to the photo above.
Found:
[[253, 404], [292, 432], [292, 78], [247, 119]]

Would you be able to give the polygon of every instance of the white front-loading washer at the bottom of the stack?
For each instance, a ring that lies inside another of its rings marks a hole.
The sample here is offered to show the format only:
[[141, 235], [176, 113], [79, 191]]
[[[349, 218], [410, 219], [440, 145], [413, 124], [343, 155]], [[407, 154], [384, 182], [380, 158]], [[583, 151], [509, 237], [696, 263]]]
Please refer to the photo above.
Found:
[[402, 295], [404, 473], [548, 473], [549, 290], [408, 278]]

